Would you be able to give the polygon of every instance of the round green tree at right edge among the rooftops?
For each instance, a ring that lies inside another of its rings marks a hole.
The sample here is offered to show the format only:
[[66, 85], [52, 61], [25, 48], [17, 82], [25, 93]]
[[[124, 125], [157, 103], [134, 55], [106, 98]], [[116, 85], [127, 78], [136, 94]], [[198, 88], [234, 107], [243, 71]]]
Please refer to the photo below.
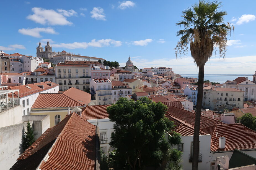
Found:
[[242, 117], [237, 118], [236, 123], [242, 123], [247, 128], [252, 130], [256, 130], [256, 117], [254, 117], [251, 113], [245, 113]]

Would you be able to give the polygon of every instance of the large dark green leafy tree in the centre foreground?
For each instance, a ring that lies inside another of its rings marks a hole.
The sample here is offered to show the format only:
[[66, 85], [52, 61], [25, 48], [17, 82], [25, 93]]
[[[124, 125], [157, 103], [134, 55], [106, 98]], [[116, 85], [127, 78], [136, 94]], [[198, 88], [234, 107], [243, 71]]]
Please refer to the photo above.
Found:
[[171, 130], [173, 122], [164, 117], [166, 110], [167, 106], [161, 102], [151, 102], [146, 97], [136, 102], [120, 98], [116, 104], [107, 107], [115, 129], [110, 141], [116, 151], [113, 157], [115, 169], [159, 167], [163, 153], [169, 148], [165, 131], [175, 134]]

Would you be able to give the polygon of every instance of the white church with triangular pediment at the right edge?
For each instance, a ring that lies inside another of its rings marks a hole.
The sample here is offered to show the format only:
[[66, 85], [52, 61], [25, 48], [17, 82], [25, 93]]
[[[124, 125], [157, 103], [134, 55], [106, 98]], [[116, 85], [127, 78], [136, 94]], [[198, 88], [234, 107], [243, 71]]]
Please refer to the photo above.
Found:
[[[224, 88], [236, 88], [244, 91], [244, 101], [256, 99], [256, 83], [248, 80], [247, 77], [237, 77], [233, 81], [223, 83]], [[241, 108], [241, 107], [240, 107]]]

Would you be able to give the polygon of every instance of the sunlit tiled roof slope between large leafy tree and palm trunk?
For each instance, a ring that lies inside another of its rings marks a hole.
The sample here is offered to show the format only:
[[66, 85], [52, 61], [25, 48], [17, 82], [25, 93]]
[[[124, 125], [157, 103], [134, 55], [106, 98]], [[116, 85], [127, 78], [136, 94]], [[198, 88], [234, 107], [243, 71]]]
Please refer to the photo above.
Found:
[[[194, 126], [191, 126], [190, 124], [179, 120], [175, 118], [174, 116], [170, 114], [165, 115], [169, 120], [174, 122], [174, 131], [181, 134], [181, 136], [193, 136], [194, 135]], [[204, 133], [203, 131], [199, 132], [200, 135], [205, 135], [207, 133]]]

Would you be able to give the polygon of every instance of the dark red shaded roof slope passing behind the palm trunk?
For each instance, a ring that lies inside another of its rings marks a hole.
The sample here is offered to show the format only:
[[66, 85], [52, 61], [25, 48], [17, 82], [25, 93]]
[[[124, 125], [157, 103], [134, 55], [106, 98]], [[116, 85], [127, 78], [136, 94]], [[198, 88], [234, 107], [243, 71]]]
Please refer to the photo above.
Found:
[[[177, 107], [170, 106], [167, 110], [167, 113], [171, 114], [172, 116], [189, 123], [190, 125], [195, 125], [195, 113], [189, 112], [187, 110], [183, 110]], [[218, 124], [225, 124], [223, 122], [220, 122], [218, 120], [214, 120], [208, 117], [204, 117], [201, 115], [201, 121], [200, 121], [200, 129], [209, 127], [212, 125], [218, 125]]]

